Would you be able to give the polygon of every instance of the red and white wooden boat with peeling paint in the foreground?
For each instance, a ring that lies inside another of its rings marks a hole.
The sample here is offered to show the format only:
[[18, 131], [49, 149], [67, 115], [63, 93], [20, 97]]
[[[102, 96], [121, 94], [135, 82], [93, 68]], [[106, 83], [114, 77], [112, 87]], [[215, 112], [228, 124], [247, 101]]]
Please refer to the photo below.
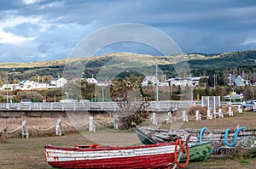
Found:
[[[50, 166], [59, 168], [172, 168], [180, 147], [175, 143], [159, 143], [141, 146], [113, 147], [75, 146], [61, 148], [44, 147]], [[176, 151], [176, 153], [175, 153]]]

